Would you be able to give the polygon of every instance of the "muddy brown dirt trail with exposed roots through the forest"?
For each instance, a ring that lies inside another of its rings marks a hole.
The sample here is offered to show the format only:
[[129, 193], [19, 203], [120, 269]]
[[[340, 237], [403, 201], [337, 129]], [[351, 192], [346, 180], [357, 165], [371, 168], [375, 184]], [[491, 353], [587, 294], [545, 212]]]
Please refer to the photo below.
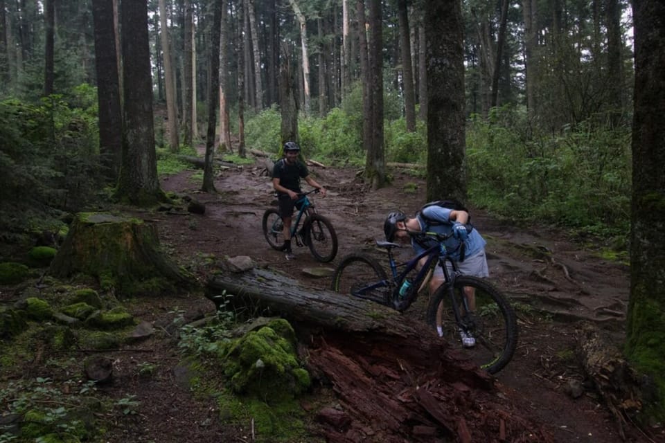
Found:
[[[339, 237], [339, 253], [332, 264], [314, 261], [306, 248], [295, 248], [297, 260], [287, 262], [282, 253], [269, 248], [260, 222], [274, 197], [260, 161], [224, 170], [215, 180], [219, 195], [199, 192], [198, 183], [188, 179], [189, 172], [163, 180], [164, 190], [202, 201], [206, 213], [158, 215], [155, 219], [162, 242], [183, 262], [208, 253], [217, 257], [249, 255], [258, 266], [288, 273], [302, 284], [328, 287], [329, 279], [312, 278], [303, 270], [330, 269], [347, 253], [371, 248], [375, 239], [382, 237], [389, 210], [413, 213], [425, 201], [424, 182], [397, 170], [391, 186], [377, 191], [358, 181], [355, 170], [310, 167], [310, 172], [328, 188], [326, 198], [314, 200]], [[412, 188], [416, 190], [407, 190]], [[594, 321], [615, 332], [617, 338], [622, 336], [629, 289], [627, 267], [602, 260], [556, 230], [518, 227], [471, 210], [475, 226], [488, 240], [491, 278], [513, 302], [529, 302], [542, 311], [541, 315], [520, 316], [520, 345], [508, 368], [497, 377], [499, 389], [516, 408], [542, 423], [556, 442], [624, 441], [593, 390], [579, 399], [572, 399], [565, 391], [570, 381], [584, 378], [570, 358], [578, 320]], [[402, 252], [405, 256], [409, 253], [407, 248]], [[409, 315], [417, 317], [418, 313]], [[662, 430], [650, 433], [647, 438], [630, 428], [625, 441], [665, 441]]]

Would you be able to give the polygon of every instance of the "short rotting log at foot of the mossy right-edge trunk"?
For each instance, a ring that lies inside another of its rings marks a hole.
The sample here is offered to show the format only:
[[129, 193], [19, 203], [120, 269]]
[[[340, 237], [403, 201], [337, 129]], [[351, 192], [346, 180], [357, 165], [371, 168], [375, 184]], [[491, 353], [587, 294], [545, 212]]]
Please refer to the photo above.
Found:
[[635, 372], [623, 358], [607, 333], [584, 323], [578, 329], [578, 354], [587, 377], [617, 419], [619, 433], [623, 425], [641, 409], [641, 387]]

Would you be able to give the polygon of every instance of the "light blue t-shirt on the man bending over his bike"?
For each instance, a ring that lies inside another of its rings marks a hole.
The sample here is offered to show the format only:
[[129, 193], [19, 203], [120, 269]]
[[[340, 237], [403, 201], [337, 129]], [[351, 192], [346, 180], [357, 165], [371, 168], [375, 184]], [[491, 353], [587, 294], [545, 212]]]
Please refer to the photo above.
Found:
[[[454, 223], [454, 221], [450, 219], [450, 211], [452, 211], [452, 209], [442, 208], [441, 206], [427, 206], [427, 208], [423, 209], [423, 214], [429, 219], [440, 221], [441, 224], [428, 225], [427, 221], [418, 214], [416, 219], [418, 219], [418, 223], [420, 223], [420, 230], [424, 231], [425, 228], [427, 228], [427, 232], [449, 235], [452, 231], [452, 224]], [[450, 253], [452, 260], [459, 260], [459, 240], [450, 237], [444, 242], [444, 244], [446, 250]], [[481, 252], [485, 248], [485, 244], [485, 239], [478, 233], [478, 230], [472, 230], [465, 241], [465, 257], [471, 257], [472, 255]], [[411, 246], [414, 246], [416, 254], [425, 251], [425, 248], [420, 246], [415, 239], [411, 239]]]

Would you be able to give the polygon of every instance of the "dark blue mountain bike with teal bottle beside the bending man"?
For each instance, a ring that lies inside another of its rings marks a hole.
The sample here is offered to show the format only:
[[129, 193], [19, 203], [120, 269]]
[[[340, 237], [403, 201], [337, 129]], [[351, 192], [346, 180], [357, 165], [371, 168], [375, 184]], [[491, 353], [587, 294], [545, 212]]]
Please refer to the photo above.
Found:
[[[332, 290], [348, 293], [358, 298], [378, 302], [398, 311], [405, 311], [418, 298], [418, 293], [427, 287], [434, 266], [443, 268], [445, 282], [427, 306], [427, 323], [432, 327], [441, 326], [443, 336], [456, 340], [463, 331], [476, 339], [475, 347], [464, 350], [480, 368], [495, 374], [502, 370], [513, 358], [517, 346], [517, 320], [515, 311], [502, 293], [488, 280], [461, 275], [456, 262], [450, 258], [443, 241], [450, 235], [438, 233], [414, 234], [427, 248], [423, 253], [398, 263], [393, 253], [400, 244], [378, 241], [376, 245], [388, 255], [391, 275], [373, 257], [364, 253], [346, 255], [332, 275]], [[431, 246], [429, 246], [431, 244]], [[418, 263], [426, 257], [425, 264], [418, 270]], [[452, 264], [450, 272], [446, 263]], [[411, 278], [411, 275], [415, 275]], [[405, 286], [406, 290], [402, 290]], [[410, 285], [409, 285], [410, 284]], [[464, 288], [475, 289], [475, 311], [469, 309]], [[441, 310], [440, 310], [441, 309]], [[440, 312], [437, 318], [437, 312]], [[443, 323], [445, 318], [452, 319]], [[436, 333], [436, 329], [435, 329]]]

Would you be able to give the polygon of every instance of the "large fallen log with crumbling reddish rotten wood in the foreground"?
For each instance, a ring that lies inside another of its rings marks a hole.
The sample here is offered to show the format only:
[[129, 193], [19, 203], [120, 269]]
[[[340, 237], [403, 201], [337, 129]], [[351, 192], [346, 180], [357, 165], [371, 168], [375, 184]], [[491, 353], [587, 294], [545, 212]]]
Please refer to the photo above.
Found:
[[327, 442], [553, 441], [461, 347], [398, 311], [256, 268], [216, 275], [206, 297], [290, 321], [311, 376], [337, 397], [317, 414]]

